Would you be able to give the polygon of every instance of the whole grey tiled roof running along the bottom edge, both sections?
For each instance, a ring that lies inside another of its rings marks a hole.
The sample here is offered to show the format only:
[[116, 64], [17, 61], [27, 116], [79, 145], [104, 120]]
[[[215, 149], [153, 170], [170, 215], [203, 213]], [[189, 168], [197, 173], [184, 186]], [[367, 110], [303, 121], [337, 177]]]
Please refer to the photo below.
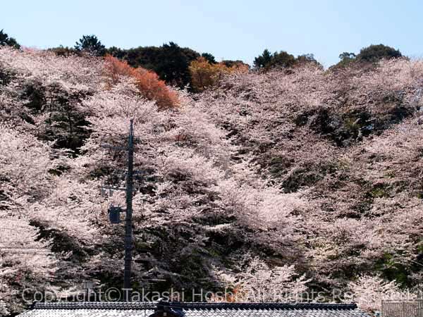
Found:
[[355, 304], [37, 303], [22, 317], [369, 317]]

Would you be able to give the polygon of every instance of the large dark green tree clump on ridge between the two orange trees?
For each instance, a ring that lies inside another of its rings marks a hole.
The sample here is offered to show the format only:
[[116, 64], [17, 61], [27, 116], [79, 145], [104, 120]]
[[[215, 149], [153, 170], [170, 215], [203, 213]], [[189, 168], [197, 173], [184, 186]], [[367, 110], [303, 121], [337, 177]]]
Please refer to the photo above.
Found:
[[[170, 85], [185, 87], [190, 84], [190, 71], [188, 67], [191, 61], [195, 61], [200, 54], [187, 47], [169, 42], [162, 46], [140, 46], [134, 49], [119, 49], [111, 47], [108, 50], [111, 56], [121, 58], [135, 68], [142, 67], [154, 70], [161, 80]], [[207, 54], [212, 58], [212, 54]], [[213, 57], [214, 58], [214, 57]]]

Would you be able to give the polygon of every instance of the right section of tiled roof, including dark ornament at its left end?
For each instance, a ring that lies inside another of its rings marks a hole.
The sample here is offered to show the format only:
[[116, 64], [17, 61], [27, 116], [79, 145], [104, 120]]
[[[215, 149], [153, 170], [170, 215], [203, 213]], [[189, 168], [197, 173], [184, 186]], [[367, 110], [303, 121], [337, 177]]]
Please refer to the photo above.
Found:
[[369, 317], [355, 304], [250, 304], [160, 302], [154, 316], [183, 317]]

